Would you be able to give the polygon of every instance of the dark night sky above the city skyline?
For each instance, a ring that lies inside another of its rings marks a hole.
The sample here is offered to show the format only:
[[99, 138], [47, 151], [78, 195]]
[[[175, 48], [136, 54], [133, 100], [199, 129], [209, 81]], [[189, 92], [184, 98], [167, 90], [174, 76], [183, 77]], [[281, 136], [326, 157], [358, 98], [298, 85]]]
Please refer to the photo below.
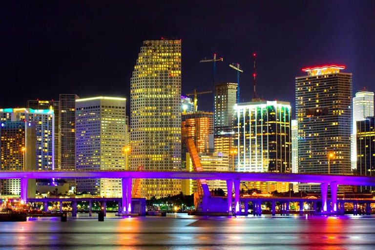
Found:
[[[375, 1], [2, 1], [0, 5], [0, 107], [27, 100], [121, 96], [130, 104], [130, 77], [144, 40], [182, 39], [182, 94], [235, 82], [241, 101], [252, 97], [252, 53], [257, 93], [294, 107], [294, 77], [302, 67], [344, 64], [353, 93], [375, 91]], [[212, 108], [212, 95], [199, 98]], [[127, 108], [128, 109], [128, 108]], [[129, 109], [128, 109], [129, 110]]]

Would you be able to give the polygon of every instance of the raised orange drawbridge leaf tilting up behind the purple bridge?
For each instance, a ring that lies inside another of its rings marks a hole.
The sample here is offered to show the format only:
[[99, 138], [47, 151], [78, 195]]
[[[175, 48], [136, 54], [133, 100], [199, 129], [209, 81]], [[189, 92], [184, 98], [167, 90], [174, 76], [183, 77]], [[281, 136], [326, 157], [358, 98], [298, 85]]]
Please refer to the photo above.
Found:
[[[189, 155], [191, 158], [191, 162], [193, 163], [194, 171], [197, 171], [197, 172], [203, 171], [203, 167], [201, 165], [201, 161], [199, 160], [199, 155], [198, 155], [197, 148], [195, 147], [194, 140], [192, 138], [187, 138], [185, 140], [185, 143], [186, 143], [187, 151], [189, 152]], [[197, 208], [197, 204], [199, 200], [202, 199], [203, 195], [207, 197], [211, 196], [209, 189], [208, 189], [207, 181], [205, 179], [197, 180], [197, 189], [198, 189], [199, 198], [195, 199], [196, 195], [194, 194], [195, 208]]]

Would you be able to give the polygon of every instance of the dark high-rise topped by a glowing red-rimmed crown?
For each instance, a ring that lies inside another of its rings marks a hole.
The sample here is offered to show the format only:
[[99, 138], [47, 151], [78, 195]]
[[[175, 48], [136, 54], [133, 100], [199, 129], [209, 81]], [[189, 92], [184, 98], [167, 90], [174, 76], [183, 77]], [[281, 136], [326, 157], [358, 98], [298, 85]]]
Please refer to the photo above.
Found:
[[295, 78], [299, 173], [351, 173], [352, 74], [344, 68], [308, 67]]

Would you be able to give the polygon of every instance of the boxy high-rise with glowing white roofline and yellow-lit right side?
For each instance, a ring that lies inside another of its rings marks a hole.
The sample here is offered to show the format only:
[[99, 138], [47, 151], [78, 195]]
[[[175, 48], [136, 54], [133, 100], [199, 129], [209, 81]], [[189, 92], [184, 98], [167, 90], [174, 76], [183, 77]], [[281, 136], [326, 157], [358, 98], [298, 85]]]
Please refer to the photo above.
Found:
[[[125, 98], [76, 100], [76, 169], [125, 170]], [[122, 195], [119, 179], [77, 179], [77, 192], [101, 197]]]

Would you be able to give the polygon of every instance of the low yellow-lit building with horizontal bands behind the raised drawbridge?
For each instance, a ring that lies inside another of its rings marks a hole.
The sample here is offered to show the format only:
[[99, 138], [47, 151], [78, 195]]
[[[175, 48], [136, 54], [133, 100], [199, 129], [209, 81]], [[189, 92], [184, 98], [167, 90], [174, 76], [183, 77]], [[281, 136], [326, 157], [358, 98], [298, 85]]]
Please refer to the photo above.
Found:
[[[229, 171], [229, 154], [225, 153], [199, 153], [199, 159], [204, 171], [214, 171], [214, 172], [227, 172]], [[186, 154], [187, 161], [187, 171], [194, 171], [193, 163], [191, 161], [190, 155]], [[207, 180], [209, 190], [221, 188], [224, 192], [227, 192], [227, 182], [223, 180]], [[196, 180], [183, 180], [183, 190], [182, 192], [186, 195], [193, 194], [197, 192], [197, 182]]]

